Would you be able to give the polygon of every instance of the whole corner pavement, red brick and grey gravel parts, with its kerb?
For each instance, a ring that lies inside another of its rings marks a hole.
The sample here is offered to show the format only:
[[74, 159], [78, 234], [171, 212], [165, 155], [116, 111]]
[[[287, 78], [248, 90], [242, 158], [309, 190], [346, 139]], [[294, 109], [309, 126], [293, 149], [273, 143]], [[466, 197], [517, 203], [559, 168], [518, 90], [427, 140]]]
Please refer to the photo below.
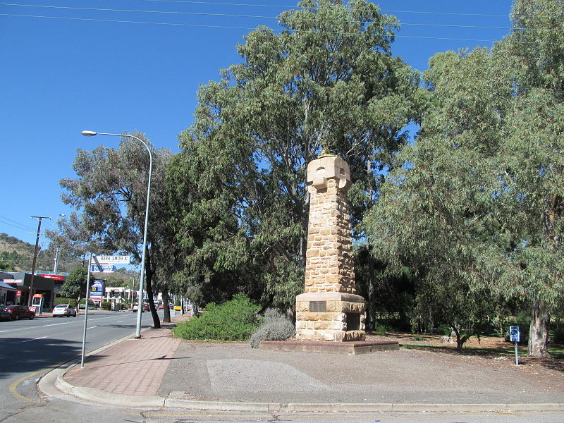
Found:
[[[180, 317], [181, 319], [183, 317]], [[97, 403], [249, 411], [564, 410], [564, 374], [468, 355], [254, 350], [147, 329], [61, 371], [56, 386]]]

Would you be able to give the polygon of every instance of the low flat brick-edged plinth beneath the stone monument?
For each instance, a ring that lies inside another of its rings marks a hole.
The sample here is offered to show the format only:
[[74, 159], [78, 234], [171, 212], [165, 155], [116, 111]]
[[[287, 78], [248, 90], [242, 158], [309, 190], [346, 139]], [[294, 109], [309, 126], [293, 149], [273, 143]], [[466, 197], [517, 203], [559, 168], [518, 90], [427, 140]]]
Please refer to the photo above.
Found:
[[262, 341], [261, 350], [294, 351], [300, 353], [369, 354], [376, 351], [399, 350], [398, 341]]

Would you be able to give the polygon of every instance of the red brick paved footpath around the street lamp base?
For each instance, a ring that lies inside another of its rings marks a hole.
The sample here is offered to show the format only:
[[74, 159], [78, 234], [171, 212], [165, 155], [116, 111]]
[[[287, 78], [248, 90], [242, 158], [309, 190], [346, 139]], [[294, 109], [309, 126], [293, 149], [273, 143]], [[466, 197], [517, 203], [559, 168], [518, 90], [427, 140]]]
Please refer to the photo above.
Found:
[[129, 338], [87, 356], [85, 368], [77, 364], [66, 372], [65, 381], [109, 393], [156, 396], [180, 343], [172, 336], [172, 326], [147, 329], [140, 339]]

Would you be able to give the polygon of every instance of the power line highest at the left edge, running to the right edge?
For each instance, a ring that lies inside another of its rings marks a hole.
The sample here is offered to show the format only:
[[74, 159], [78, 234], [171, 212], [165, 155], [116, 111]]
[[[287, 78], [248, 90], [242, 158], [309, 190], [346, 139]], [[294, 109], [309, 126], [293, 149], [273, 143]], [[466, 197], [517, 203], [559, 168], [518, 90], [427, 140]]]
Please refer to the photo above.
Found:
[[[55, 8], [78, 11], [106, 11], [106, 12], [125, 12], [125, 13], [160, 13], [165, 15], [190, 15], [190, 16], [221, 16], [223, 18], [259, 18], [259, 19], [277, 19], [277, 16], [262, 15], [238, 15], [233, 13], [209, 13], [209, 12], [182, 12], [182, 11], [147, 11], [140, 9], [116, 9], [116, 8], [94, 8], [94, 7], [77, 7], [77, 6], [49, 6], [40, 4], [16, 4], [16, 3], [0, 3], [1, 6], [18, 6], [18, 7], [34, 7], [34, 8]], [[337, 23], [365, 23], [361, 20], [341, 20], [341, 19], [317, 19], [303, 18], [303, 20], [315, 20], [317, 22], [337, 22]], [[532, 30], [532, 31], [562, 31], [558, 28], [513, 28], [483, 25], [454, 25], [443, 23], [380, 23], [381, 25], [399, 25], [399, 26], [427, 26], [427, 27], [455, 27], [455, 28], [477, 28], [489, 30]]]

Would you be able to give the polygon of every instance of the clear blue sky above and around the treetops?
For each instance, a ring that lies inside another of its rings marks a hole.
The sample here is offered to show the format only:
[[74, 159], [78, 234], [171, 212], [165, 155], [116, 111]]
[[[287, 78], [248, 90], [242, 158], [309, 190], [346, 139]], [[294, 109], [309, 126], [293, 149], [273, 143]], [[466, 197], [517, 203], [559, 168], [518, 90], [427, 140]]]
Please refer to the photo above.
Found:
[[[76, 149], [117, 147], [119, 142], [118, 137], [82, 137], [82, 130], [140, 130], [155, 146], [178, 152], [177, 135], [192, 123], [198, 85], [219, 79], [221, 68], [239, 61], [235, 44], [243, 35], [257, 25], [278, 29], [275, 17], [296, 3], [0, 3], [0, 233], [33, 244], [37, 220], [30, 216], [51, 216], [43, 229], [59, 214], [70, 214], [61, 202], [59, 180], [73, 178]], [[491, 46], [491, 40], [508, 33], [512, 4], [375, 3], [402, 23], [394, 56], [419, 70], [438, 51]]]

